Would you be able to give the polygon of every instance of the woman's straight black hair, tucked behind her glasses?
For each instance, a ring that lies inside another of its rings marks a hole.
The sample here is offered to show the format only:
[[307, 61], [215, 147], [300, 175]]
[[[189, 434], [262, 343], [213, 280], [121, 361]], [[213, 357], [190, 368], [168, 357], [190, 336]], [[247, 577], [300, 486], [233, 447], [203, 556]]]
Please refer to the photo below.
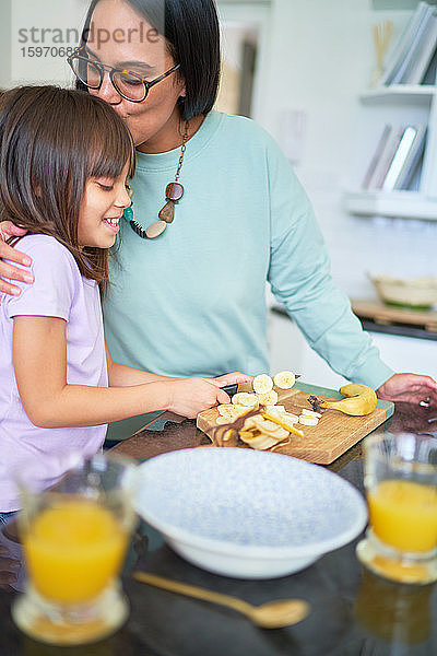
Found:
[[[92, 34], [91, 21], [99, 0], [92, 0], [81, 45]], [[179, 98], [184, 120], [212, 109], [220, 82], [220, 28], [214, 0], [125, 0], [167, 40], [176, 74], [184, 78], [186, 97]], [[163, 71], [164, 72], [164, 71]], [[86, 87], [78, 81], [78, 89]], [[145, 101], [147, 102], [147, 101]]]

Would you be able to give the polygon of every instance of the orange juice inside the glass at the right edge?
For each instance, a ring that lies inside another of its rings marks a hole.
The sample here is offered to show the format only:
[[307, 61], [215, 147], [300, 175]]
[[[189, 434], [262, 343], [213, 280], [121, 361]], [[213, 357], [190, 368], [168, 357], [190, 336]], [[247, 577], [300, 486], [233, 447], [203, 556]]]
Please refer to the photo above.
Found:
[[437, 547], [437, 488], [387, 480], [368, 493], [370, 526], [399, 551], [427, 552]]

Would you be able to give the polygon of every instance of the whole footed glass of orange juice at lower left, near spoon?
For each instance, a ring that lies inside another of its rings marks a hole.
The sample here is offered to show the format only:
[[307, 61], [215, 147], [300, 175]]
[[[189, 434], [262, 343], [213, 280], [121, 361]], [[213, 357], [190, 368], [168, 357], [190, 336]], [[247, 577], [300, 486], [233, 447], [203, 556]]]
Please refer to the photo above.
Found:
[[108, 635], [126, 620], [118, 576], [135, 516], [133, 469], [98, 454], [48, 491], [20, 484], [28, 581], [12, 614], [32, 637], [76, 645]]

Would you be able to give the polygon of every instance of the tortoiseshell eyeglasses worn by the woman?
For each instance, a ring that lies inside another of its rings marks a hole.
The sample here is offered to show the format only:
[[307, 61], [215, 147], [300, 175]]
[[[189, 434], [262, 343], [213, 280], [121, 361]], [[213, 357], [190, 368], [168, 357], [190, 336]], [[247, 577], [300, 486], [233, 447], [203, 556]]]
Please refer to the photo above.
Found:
[[[158, 78], [147, 81], [133, 71], [117, 69], [107, 66], [106, 63], [91, 60], [86, 57], [86, 50], [84, 48], [85, 46], [76, 48], [76, 50], [67, 58], [74, 75], [88, 89], [97, 90], [101, 89], [105, 71], [107, 71], [109, 73], [109, 80], [117, 93], [131, 103], [142, 103], [145, 101], [149, 90], [152, 89], [152, 86], [162, 80], [165, 80], [165, 78], [180, 68], [180, 63], [177, 63]], [[81, 51], [83, 51], [84, 55], [80, 55]]]

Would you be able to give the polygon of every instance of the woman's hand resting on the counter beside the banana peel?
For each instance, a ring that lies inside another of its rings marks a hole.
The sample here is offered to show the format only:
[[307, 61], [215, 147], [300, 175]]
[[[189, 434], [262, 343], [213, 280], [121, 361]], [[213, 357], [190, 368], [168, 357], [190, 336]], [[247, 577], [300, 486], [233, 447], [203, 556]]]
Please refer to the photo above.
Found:
[[394, 374], [376, 390], [380, 399], [420, 403], [427, 401], [437, 407], [437, 383], [430, 376]]

